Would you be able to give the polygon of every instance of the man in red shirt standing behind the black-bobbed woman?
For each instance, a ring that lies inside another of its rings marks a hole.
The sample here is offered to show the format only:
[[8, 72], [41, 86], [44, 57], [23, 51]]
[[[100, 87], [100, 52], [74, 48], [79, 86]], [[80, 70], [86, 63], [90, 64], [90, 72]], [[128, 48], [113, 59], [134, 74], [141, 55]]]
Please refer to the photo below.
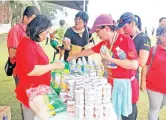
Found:
[[[14, 64], [16, 62], [16, 51], [20, 41], [23, 37], [26, 36], [26, 26], [36, 17], [36, 15], [40, 14], [39, 10], [34, 6], [28, 6], [23, 13], [23, 19], [21, 23], [13, 26], [7, 37], [7, 48], [9, 51], [10, 62]], [[13, 77], [15, 80], [15, 84], [17, 85], [19, 80], [17, 77], [16, 69], [13, 70]]]

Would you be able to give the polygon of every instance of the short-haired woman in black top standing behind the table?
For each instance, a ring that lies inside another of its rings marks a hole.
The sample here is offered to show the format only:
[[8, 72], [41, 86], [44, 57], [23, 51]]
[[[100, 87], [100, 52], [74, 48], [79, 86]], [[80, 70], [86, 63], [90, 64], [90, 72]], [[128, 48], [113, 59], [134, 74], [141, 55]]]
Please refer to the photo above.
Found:
[[63, 40], [65, 61], [69, 55], [86, 49], [89, 40], [88, 19], [89, 16], [86, 12], [78, 12], [74, 18], [75, 25], [66, 30]]

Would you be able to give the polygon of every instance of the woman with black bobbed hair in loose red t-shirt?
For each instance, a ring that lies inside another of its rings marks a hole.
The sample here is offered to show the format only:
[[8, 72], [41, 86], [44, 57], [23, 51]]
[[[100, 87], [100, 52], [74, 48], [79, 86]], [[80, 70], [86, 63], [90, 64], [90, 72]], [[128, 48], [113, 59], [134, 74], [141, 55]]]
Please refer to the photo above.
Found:
[[[42, 23], [42, 24], [41, 24]], [[27, 26], [26, 34], [20, 41], [16, 53], [16, 69], [19, 83], [16, 86], [16, 97], [23, 104], [24, 120], [34, 120], [34, 113], [29, 108], [26, 90], [39, 85], [50, 86], [53, 69], [63, 69], [63, 62], [49, 64], [49, 59], [39, 42], [45, 40], [51, 30], [51, 20], [38, 15]]]

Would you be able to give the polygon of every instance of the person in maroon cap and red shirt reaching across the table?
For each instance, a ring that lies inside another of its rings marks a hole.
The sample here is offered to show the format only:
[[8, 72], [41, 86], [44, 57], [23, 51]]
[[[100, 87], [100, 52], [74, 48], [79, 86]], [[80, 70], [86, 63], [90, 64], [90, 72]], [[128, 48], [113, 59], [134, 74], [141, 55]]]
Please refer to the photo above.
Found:
[[[135, 120], [139, 87], [134, 76], [138, 68], [138, 57], [132, 39], [128, 35], [117, 33], [113, 18], [107, 14], [102, 14], [96, 18], [90, 32], [96, 32], [102, 41], [91, 49], [69, 56], [68, 61], [100, 53], [101, 58], [108, 61], [108, 81], [113, 84], [112, 102], [118, 117], [122, 115], [122, 120]], [[106, 46], [108, 53], [102, 52], [103, 46]], [[119, 50], [123, 53], [119, 54]], [[128, 87], [125, 88], [122, 82], [128, 83]], [[117, 87], [119, 84], [122, 86]], [[126, 117], [124, 118], [124, 116]]]

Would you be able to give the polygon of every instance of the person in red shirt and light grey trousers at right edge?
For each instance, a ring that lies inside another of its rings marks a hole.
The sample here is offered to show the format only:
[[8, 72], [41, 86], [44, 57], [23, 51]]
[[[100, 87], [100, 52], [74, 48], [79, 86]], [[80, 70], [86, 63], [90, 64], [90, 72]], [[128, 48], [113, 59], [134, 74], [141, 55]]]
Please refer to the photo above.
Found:
[[166, 27], [161, 27], [159, 39], [161, 44], [155, 46], [155, 53], [152, 53], [154, 47], [151, 48], [141, 79], [142, 90], [147, 88], [149, 96], [149, 120], [158, 120], [159, 110], [166, 105]]

